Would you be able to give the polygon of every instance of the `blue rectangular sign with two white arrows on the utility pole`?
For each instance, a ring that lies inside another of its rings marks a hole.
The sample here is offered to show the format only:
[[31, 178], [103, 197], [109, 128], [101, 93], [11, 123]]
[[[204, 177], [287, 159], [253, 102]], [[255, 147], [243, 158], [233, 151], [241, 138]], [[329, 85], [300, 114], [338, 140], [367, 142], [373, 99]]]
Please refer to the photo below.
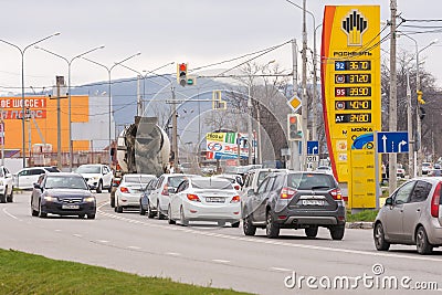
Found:
[[409, 152], [409, 139], [407, 131], [377, 133], [378, 152]]

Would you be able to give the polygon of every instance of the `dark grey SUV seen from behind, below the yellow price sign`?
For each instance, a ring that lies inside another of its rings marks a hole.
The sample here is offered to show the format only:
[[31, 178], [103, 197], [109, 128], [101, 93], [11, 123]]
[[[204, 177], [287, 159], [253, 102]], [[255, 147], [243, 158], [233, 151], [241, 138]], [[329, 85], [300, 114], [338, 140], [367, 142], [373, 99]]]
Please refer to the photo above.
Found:
[[341, 240], [345, 214], [338, 183], [324, 172], [271, 173], [242, 203], [245, 235], [254, 235], [256, 228], [265, 229], [267, 238], [277, 238], [280, 229], [305, 229], [308, 238], [315, 238], [318, 226], [325, 226], [333, 240]]

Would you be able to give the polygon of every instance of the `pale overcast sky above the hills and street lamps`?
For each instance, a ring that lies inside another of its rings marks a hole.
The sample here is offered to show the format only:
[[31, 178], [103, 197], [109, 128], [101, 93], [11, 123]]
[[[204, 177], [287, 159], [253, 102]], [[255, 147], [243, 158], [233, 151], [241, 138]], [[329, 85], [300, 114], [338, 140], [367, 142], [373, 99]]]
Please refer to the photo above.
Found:
[[[292, 0], [302, 6], [302, 0]], [[380, 4], [381, 20], [390, 15], [390, 1], [308, 0], [307, 10], [322, 23], [325, 4]], [[398, 0], [404, 19], [441, 19], [440, 0]], [[95, 46], [105, 45], [87, 55], [112, 66], [138, 51], [141, 55], [126, 65], [141, 72], [170, 62], [188, 62], [190, 69], [230, 60], [282, 44], [292, 38], [302, 40], [302, 10], [285, 0], [1, 0], [0, 39], [24, 48], [54, 32], [61, 32], [39, 45], [71, 60]], [[313, 22], [307, 15], [308, 43], [313, 44]], [[411, 24], [411, 23], [407, 23]], [[413, 23], [417, 24], [417, 23]], [[442, 25], [442, 23], [423, 23]], [[404, 29], [404, 28], [402, 28]], [[320, 28], [317, 34], [318, 52]], [[413, 34], [423, 48], [440, 33]], [[424, 67], [442, 85], [441, 42], [427, 49], [420, 59]], [[389, 42], [382, 44], [388, 49]], [[398, 46], [410, 52], [414, 43], [406, 38]], [[276, 60], [283, 69], [291, 67], [291, 46], [285, 45], [263, 55], [257, 63]], [[236, 62], [238, 63], [238, 62]], [[235, 63], [220, 65], [224, 69]], [[0, 42], [0, 93], [20, 92], [21, 57], [17, 49]], [[173, 73], [167, 66], [159, 73]], [[29, 48], [24, 54], [25, 85], [49, 87], [55, 75], [67, 76], [66, 62], [43, 51]], [[112, 71], [113, 78], [131, 77], [123, 67]], [[72, 64], [72, 85], [106, 81], [107, 72], [84, 60]], [[9, 88], [11, 87], [11, 88]], [[17, 88], [14, 88], [17, 87]]]

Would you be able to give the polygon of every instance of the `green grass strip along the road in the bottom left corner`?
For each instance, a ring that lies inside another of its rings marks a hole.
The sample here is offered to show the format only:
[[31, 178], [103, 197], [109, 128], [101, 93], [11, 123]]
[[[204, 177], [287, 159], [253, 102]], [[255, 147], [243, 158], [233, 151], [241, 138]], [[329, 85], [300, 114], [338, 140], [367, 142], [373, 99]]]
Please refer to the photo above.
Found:
[[[198, 275], [198, 274], [196, 274]], [[246, 294], [0, 249], [0, 294]]]

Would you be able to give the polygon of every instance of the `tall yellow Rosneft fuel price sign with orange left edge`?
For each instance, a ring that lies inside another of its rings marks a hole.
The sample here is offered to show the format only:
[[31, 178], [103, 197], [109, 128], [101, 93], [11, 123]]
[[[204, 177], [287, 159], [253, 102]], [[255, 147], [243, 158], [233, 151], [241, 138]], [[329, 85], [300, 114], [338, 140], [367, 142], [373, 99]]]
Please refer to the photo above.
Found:
[[347, 136], [381, 129], [379, 36], [379, 6], [325, 8], [323, 109], [332, 166], [340, 182], [350, 178]]

